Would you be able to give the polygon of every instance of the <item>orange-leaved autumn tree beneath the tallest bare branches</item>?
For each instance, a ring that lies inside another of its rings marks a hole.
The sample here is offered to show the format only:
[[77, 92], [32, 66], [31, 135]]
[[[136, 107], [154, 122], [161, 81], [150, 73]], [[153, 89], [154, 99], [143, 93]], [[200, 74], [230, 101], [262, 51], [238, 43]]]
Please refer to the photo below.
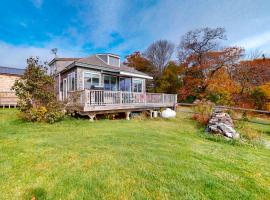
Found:
[[213, 83], [210, 80], [220, 72], [223, 75], [226, 72], [226, 79], [230, 80], [232, 71], [242, 57], [243, 51], [242, 48], [238, 47], [209, 51], [203, 54], [200, 65], [196, 65], [196, 56], [191, 55], [182, 64], [185, 68], [185, 76], [183, 77], [184, 86], [179, 91], [180, 98], [205, 98], [208, 95], [206, 90], [209, 83]]

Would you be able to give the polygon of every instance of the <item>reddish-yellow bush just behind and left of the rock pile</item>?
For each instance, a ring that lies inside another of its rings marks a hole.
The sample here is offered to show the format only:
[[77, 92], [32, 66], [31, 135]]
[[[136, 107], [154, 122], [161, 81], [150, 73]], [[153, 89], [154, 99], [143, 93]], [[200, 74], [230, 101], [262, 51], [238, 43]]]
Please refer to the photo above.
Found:
[[210, 101], [197, 101], [193, 107], [195, 114], [192, 119], [196, 120], [202, 125], [207, 125], [212, 115], [214, 104]]

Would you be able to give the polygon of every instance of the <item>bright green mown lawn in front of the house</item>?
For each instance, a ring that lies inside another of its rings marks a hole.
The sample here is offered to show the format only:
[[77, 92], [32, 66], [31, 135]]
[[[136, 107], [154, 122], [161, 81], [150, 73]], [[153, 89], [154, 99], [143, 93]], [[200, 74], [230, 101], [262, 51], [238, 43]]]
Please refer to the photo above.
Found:
[[0, 199], [270, 199], [270, 150], [205, 136], [187, 114], [49, 125], [16, 113], [0, 110]]

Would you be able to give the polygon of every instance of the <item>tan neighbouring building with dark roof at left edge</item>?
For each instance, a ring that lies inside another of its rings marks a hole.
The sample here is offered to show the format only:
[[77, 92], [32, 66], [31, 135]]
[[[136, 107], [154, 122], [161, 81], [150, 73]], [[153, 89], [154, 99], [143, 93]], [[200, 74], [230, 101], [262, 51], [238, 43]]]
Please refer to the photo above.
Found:
[[0, 106], [16, 107], [17, 97], [11, 87], [24, 73], [24, 69], [0, 66]]

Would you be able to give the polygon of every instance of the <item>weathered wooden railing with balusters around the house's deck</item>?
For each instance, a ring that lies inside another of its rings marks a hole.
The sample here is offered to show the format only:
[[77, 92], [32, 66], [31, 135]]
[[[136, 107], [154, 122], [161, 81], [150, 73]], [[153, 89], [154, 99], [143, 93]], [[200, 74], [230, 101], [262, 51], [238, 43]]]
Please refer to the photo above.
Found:
[[174, 106], [177, 103], [176, 94], [163, 93], [137, 93], [124, 91], [104, 90], [81, 90], [69, 92], [68, 98], [77, 105], [98, 106], [98, 105], [167, 105]]

